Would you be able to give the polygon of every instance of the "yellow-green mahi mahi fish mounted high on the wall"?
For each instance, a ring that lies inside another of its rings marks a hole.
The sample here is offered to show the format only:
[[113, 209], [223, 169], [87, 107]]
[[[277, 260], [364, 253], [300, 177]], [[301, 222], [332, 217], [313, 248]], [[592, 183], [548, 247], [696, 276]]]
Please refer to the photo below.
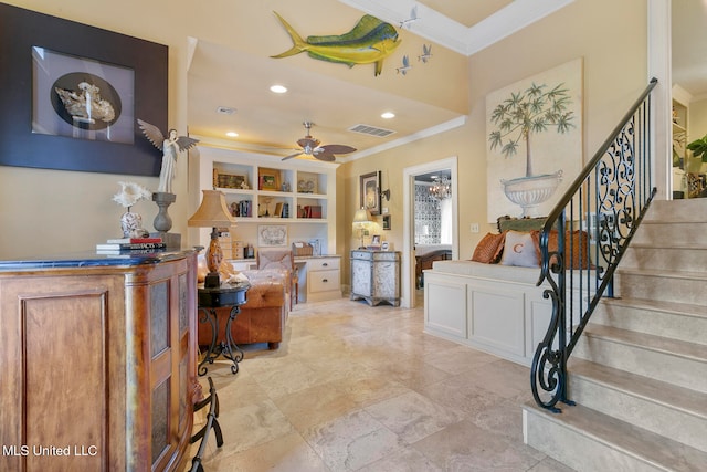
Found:
[[356, 64], [376, 63], [376, 75], [383, 69], [383, 60], [400, 45], [398, 31], [376, 17], [362, 17], [351, 31], [339, 35], [307, 36], [305, 41], [277, 12], [294, 45], [282, 54], [271, 57], [288, 57], [307, 52], [309, 57], [336, 62], [352, 67]]

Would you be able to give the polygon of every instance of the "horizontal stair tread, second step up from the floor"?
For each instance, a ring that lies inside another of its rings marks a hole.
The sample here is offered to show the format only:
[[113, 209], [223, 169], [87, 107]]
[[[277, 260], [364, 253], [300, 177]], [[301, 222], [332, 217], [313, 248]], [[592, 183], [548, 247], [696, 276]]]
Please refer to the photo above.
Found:
[[707, 420], [707, 394], [584, 359], [572, 359], [569, 374], [623, 390], [634, 397], [696, 415]]

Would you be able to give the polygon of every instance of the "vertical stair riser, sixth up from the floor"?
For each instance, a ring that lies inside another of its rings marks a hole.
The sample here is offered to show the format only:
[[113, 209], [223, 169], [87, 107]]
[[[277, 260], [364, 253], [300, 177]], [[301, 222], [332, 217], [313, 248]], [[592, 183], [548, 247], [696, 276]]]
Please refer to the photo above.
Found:
[[621, 268], [700, 272], [707, 268], [707, 250], [630, 247]]

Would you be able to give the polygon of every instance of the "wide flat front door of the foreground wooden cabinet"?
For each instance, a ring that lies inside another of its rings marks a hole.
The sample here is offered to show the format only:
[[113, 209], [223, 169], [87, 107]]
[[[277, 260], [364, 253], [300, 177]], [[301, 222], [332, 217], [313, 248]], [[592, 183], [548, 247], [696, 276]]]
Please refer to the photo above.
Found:
[[0, 470], [126, 470], [123, 277], [0, 279]]

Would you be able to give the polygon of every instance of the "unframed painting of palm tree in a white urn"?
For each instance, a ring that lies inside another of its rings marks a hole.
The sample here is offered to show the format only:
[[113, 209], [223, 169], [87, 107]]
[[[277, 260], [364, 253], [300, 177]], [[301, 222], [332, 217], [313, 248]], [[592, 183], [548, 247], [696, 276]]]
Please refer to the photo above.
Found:
[[546, 216], [581, 169], [581, 69], [574, 60], [487, 96], [489, 222]]

